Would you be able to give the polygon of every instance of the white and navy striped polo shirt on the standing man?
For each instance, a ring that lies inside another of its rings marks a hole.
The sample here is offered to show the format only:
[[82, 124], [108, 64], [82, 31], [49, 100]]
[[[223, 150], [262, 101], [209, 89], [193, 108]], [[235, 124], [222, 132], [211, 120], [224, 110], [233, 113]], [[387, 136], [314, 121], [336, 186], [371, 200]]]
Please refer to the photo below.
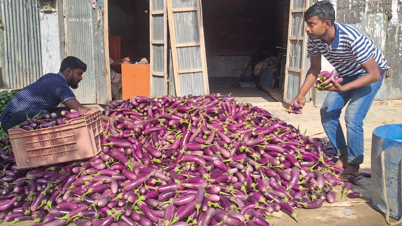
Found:
[[371, 58], [374, 58], [378, 68], [389, 68], [384, 55], [362, 30], [340, 23], [334, 23], [334, 26], [336, 34], [330, 45], [322, 39], [308, 39], [307, 51], [310, 55], [321, 53], [341, 77], [365, 73], [361, 64]]

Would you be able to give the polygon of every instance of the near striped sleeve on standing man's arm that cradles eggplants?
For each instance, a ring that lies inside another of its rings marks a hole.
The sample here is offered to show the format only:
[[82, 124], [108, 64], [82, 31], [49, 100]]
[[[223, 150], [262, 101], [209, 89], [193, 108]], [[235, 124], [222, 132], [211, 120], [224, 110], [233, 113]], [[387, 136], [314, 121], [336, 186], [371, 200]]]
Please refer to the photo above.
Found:
[[374, 45], [365, 36], [358, 37], [351, 44], [351, 52], [356, 57], [356, 61], [362, 65], [375, 55]]

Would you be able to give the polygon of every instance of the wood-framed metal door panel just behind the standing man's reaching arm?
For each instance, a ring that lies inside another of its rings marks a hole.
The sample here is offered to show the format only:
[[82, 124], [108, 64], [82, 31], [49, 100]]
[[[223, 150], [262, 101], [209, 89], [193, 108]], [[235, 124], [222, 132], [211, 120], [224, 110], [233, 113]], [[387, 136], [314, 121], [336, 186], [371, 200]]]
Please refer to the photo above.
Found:
[[[291, 0], [289, 33], [287, 42], [287, 68], [283, 101], [290, 103], [296, 97], [304, 82], [307, 39], [304, 31], [303, 12], [310, 0]], [[307, 98], [307, 97], [306, 97]]]

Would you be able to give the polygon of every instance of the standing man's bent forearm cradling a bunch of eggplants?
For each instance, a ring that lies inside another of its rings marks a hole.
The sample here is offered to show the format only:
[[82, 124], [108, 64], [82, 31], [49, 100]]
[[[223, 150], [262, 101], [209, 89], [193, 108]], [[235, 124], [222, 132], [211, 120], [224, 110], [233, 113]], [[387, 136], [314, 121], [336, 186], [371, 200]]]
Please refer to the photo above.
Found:
[[379, 69], [374, 58], [370, 58], [370, 60], [368, 60], [364, 64], [361, 64], [361, 67], [366, 71], [365, 75], [343, 86], [335, 82], [335, 80], [332, 80], [332, 87], [326, 88], [324, 90], [347, 92], [349, 90], [353, 90], [355, 88], [360, 88], [363, 86], [367, 86], [373, 82], [377, 82], [381, 78], [381, 74], [379, 73]]

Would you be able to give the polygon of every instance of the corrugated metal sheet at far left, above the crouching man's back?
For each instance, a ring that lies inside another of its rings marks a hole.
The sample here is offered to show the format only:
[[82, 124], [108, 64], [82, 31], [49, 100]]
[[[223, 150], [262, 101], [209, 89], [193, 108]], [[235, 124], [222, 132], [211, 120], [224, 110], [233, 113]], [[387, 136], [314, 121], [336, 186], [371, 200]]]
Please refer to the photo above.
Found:
[[42, 76], [39, 3], [1, 0], [2, 88], [23, 88]]

